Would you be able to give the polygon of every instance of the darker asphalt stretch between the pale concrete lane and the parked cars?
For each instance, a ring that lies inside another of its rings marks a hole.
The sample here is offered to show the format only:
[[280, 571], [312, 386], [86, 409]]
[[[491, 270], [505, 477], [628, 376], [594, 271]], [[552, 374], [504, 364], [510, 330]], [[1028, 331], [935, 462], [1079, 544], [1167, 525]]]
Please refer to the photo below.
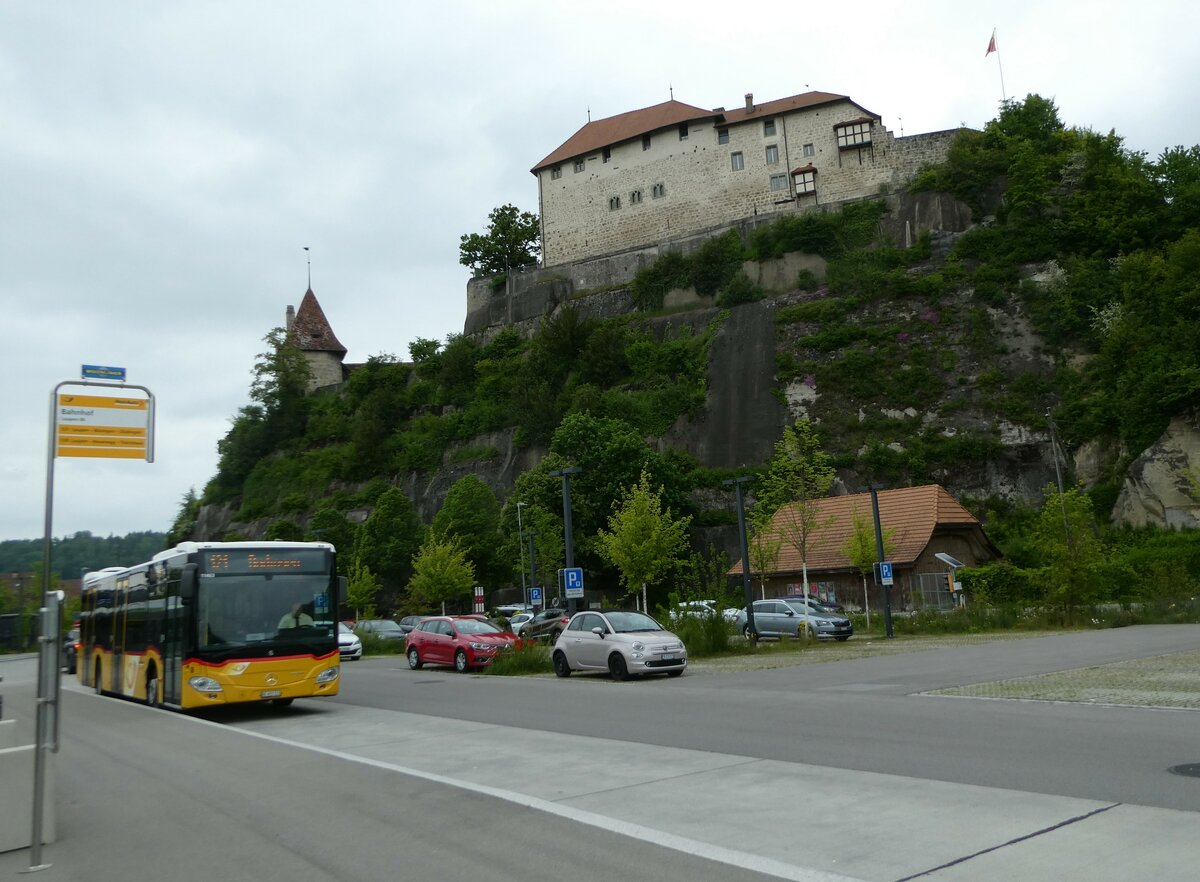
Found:
[[[857, 638], [856, 638], [857, 640]], [[349, 665], [335, 701], [539, 732], [1200, 811], [1190, 710], [930, 696], [947, 686], [1200, 648], [1200, 626], [1033, 636], [677, 680], [504, 678]]]

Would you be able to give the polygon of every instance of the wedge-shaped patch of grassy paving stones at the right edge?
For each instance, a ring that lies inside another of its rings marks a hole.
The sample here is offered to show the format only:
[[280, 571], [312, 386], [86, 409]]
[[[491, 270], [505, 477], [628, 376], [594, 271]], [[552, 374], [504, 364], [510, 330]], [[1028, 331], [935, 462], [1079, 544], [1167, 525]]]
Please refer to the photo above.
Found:
[[928, 695], [1200, 710], [1200, 649], [938, 689]]

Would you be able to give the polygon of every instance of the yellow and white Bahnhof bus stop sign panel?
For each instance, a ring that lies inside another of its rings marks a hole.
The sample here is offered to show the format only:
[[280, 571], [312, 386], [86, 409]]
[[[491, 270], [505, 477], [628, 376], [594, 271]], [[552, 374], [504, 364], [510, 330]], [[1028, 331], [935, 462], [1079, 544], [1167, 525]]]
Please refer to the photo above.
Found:
[[55, 455], [145, 460], [150, 400], [60, 394]]

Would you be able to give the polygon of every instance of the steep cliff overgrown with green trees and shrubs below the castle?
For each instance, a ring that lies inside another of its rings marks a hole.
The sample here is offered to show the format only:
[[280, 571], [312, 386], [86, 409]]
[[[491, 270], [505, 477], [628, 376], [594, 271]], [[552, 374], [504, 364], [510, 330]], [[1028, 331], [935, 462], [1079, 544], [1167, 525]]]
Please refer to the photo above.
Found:
[[[1038, 504], [1055, 426], [1064, 479], [1082, 479], [1097, 511], [1134, 485], [1188, 526], [1200, 146], [1151, 161], [1030, 96], [961, 132], [911, 191], [953, 198], [970, 228], [906, 236], [894, 199], [788, 215], [668, 251], [625, 284], [559, 278], [544, 312], [422, 341], [410, 364], [376, 356], [313, 396], [283, 344], [176, 530], [313, 535], [322, 511], [360, 523], [389, 487], [430, 523], [464, 475], [553, 512], [548, 470], [575, 463], [588, 553], [622, 486], [593, 472], [624, 476], [642, 460], [702, 544], [732, 522], [721, 480], [760, 468], [800, 415], [844, 490], [934, 481], [980, 515]], [[797, 269], [794, 254], [814, 259]], [[1178, 480], [1140, 482], [1153, 469], [1139, 456], [1178, 433]], [[1182, 502], [1162, 502], [1175, 491]], [[516, 559], [512, 509], [500, 541]]]

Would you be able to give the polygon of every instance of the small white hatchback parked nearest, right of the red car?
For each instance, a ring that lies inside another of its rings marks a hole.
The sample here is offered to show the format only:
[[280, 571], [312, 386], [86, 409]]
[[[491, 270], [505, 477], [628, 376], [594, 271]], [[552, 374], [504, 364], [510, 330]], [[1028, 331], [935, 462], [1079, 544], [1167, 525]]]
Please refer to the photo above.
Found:
[[678, 677], [688, 667], [688, 647], [643, 612], [587, 610], [571, 617], [550, 658], [559, 677], [572, 671], [607, 671], [614, 680]]

